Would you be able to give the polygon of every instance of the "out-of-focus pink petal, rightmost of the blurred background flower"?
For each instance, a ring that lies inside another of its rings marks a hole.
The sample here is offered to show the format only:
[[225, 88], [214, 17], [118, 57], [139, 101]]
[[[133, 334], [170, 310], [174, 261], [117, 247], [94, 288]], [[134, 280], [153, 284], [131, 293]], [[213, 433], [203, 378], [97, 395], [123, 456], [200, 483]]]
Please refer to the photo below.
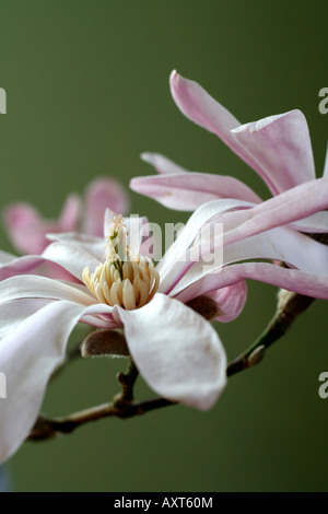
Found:
[[93, 180], [85, 190], [83, 232], [102, 236], [107, 208], [119, 214], [128, 211], [129, 200], [125, 188], [114, 178]]

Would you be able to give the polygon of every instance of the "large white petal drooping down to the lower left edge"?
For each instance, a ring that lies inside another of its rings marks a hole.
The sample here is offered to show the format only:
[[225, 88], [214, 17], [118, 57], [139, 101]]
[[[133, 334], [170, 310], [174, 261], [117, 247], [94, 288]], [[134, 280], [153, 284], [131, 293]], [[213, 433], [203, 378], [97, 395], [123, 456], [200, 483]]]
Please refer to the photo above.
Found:
[[0, 341], [0, 370], [7, 398], [0, 401], [0, 463], [8, 459], [32, 429], [54, 369], [65, 355], [69, 335], [81, 316], [106, 313], [107, 305], [83, 307], [51, 302]]

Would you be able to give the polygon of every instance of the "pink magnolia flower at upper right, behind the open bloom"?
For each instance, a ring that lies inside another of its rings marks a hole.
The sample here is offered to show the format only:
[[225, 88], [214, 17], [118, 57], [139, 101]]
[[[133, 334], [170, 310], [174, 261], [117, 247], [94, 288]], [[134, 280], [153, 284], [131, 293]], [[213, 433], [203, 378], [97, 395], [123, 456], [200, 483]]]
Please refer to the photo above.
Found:
[[[241, 125], [198, 83], [184, 79], [176, 71], [172, 72], [169, 83], [181, 113], [222, 139], [259, 174], [272, 195], [315, 179], [308, 127], [301, 110]], [[256, 192], [234, 177], [191, 173], [155, 153], [144, 153], [142, 159], [160, 175], [133, 178], [131, 188], [168, 208], [194, 211], [215, 198], [235, 198], [253, 203], [261, 201]], [[324, 176], [327, 174], [328, 159]], [[328, 212], [317, 212], [295, 227], [303, 232], [327, 232]]]

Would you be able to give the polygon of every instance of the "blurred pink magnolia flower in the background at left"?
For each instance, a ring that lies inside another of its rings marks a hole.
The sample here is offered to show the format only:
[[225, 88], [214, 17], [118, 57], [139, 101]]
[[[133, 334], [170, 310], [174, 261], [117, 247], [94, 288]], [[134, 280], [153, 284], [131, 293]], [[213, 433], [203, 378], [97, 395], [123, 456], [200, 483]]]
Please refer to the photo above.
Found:
[[128, 211], [128, 196], [114, 178], [97, 178], [90, 183], [83, 202], [78, 195], [70, 195], [58, 220], [45, 220], [30, 203], [12, 203], [3, 209], [7, 233], [17, 252], [42, 254], [48, 246], [49, 232], [79, 231], [98, 235], [103, 233], [106, 208], [117, 212]]

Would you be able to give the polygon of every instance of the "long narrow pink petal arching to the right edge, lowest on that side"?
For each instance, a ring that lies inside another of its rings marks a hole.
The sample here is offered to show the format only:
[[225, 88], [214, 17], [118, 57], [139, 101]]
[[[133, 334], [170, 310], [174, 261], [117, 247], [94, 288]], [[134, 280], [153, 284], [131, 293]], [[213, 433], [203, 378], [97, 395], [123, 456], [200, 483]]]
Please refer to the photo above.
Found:
[[181, 289], [175, 297], [180, 302], [188, 302], [189, 299], [206, 294], [211, 289], [226, 288], [245, 279], [270, 283], [295, 293], [328, 300], [328, 276], [317, 276], [267, 262], [238, 264], [223, 268], [218, 273], [206, 274], [189, 287]]

